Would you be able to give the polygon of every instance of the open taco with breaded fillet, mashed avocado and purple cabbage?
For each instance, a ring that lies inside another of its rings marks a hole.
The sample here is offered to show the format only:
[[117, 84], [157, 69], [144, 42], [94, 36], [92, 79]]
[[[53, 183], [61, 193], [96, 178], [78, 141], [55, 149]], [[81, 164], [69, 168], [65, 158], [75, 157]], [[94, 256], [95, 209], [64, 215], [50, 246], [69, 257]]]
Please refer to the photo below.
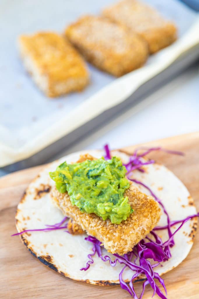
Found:
[[24, 245], [71, 279], [134, 296], [144, 281], [166, 298], [155, 280], [165, 288], [160, 276], [186, 258], [197, 213], [183, 183], [146, 153], [83, 151], [48, 164], [18, 204]]

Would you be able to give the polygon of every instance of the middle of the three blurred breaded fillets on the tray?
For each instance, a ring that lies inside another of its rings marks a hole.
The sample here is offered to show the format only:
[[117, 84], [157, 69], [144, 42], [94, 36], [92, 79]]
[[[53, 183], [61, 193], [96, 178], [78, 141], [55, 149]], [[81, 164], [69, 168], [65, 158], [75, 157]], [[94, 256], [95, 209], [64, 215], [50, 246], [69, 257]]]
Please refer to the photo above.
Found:
[[89, 62], [114, 76], [139, 68], [148, 57], [144, 39], [103, 17], [84, 16], [65, 34]]

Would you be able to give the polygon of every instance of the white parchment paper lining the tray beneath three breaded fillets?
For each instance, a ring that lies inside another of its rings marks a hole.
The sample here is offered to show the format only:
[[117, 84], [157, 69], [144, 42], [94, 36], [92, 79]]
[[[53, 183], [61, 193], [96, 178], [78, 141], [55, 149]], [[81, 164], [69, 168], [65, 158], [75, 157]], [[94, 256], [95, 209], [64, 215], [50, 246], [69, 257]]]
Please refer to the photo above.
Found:
[[146, 65], [121, 78], [89, 65], [91, 84], [81, 93], [58, 99], [45, 97], [24, 71], [16, 39], [37, 30], [62, 32], [84, 13], [98, 13], [116, 1], [3, 1], [0, 22], [0, 166], [30, 157], [110, 107], [124, 101], [141, 84], [199, 42], [198, 15], [178, 1], [147, 1], [176, 22], [179, 39], [149, 57]]

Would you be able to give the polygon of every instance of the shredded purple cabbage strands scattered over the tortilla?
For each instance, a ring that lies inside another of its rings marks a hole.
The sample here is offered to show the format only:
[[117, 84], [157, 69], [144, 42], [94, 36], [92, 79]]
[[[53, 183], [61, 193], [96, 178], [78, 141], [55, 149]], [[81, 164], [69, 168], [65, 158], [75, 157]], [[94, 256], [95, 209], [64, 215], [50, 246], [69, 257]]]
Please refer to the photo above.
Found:
[[[106, 152], [106, 155], [104, 155], [104, 158], [106, 160], [111, 159], [111, 153], [110, 153], [110, 150], [109, 150], [109, 147], [107, 144], [104, 146], [104, 150]], [[145, 150], [145, 151], [138, 155], [138, 151], [140, 151], [140, 150]], [[115, 265], [117, 263], [124, 265], [121, 272], [119, 273], [120, 285], [121, 285], [122, 289], [129, 292], [129, 294], [131, 296], [134, 296], [134, 299], [142, 299], [142, 297], [144, 295], [145, 287], [148, 284], [153, 289], [152, 297], [155, 294], [157, 294], [160, 298], [167, 299], [156, 283], [156, 281], [158, 281], [161, 284], [161, 286], [163, 287], [163, 289], [165, 291], [165, 294], [167, 295], [164, 280], [159, 276], [159, 274], [157, 272], [154, 272], [154, 269], [159, 265], [162, 266], [161, 263], [167, 261], [171, 257], [171, 252], [170, 252], [169, 248], [171, 248], [173, 245], [175, 245], [173, 237], [181, 229], [183, 224], [185, 222], [187, 222], [188, 220], [192, 219], [193, 217], [199, 217], [199, 213], [198, 213], [198, 214], [188, 216], [183, 220], [170, 221], [169, 214], [167, 213], [163, 203], [152, 192], [152, 190], [148, 186], [146, 186], [146, 184], [142, 183], [141, 181], [132, 179], [130, 177], [133, 170], [137, 169], [141, 172], [144, 172], [144, 168], [143, 168], [144, 165], [155, 163], [154, 160], [143, 161], [142, 157], [146, 156], [147, 154], [149, 154], [152, 151], [157, 151], [157, 150], [163, 151], [163, 152], [166, 152], [169, 154], [184, 155], [183, 152], [167, 150], [167, 149], [163, 149], [162, 147], [153, 147], [153, 148], [140, 147], [140, 148], [136, 149], [135, 152], [133, 153], [133, 155], [131, 155], [129, 157], [129, 162], [127, 164], [124, 164], [124, 166], [126, 166], [126, 168], [127, 168], [128, 179], [133, 181], [136, 184], [140, 184], [143, 187], [145, 187], [150, 192], [150, 194], [155, 198], [155, 200], [159, 203], [159, 205], [161, 205], [161, 207], [163, 208], [163, 212], [167, 216], [167, 225], [155, 227], [150, 232], [150, 234], [152, 235], [152, 238], [149, 236], [146, 236], [145, 239], [142, 239], [140, 242], [138, 242], [138, 244], [132, 249], [131, 252], [128, 252], [127, 254], [124, 254], [123, 256], [120, 256], [118, 254], [113, 254], [113, 256], [115, 257], [114, 260], [111, 260], [111, 258], [108, 255], [104, 255], [104, 256], [102, 255], [101, 248], [104, 248], [104, 247], [101, 246], [100, 241], [98, 241], [95, 237], [92, 237], [92, 236], [86, 237], [85, 240], [87, 240], [93, 244], [92, 253], [88, 254], [89, 260], [87, 261], [86, 266], [84, 268], [80, 269], [81, 271], [88, 270], [90, 265], [92, 265], [94, 263], [93, 257], [95, 256], [95, 254], [97, 254], [97, 256], [103, 262], [109, 262], [110, 266], [112, 266], [112, 267], [115, 267]], [[53, 225], [45, 225], [46, 228], [25, 230], [25, 231], [21, 231], [20, 233], [13, 234], [12, 236], [21, 235], [21, 234], [29, 232], [29, 231], [44, 231], [44, 232], [46, 232], [46, 231], [53, 231], [53, 230], [67, 228], [67, 224], [64, 225], [64, 223], [66, 221], [67, 221], [67, 217], [64, 217], [64, 219], [59, 223], [55, 223]], [[174, 225], [177, 225], [179, 223], [181, 223], [181, 225], [172, 233], [171, 227]], [[166, 229], [168, 231], [169, 238], [166, 242], [163, 242], [161, 237], [159, 237], [158, 234], [156, 234], [156, 232], [155, 232], [155, 231], [162, 230], [162, 229]], [[157, 262], [157, 263], [151, 264], [149, 259], [152, 259], [154, 262]], [[129, 268], [132, 270], [132, 278], [131, 278], [129, 284], [127, 284], [122, 278], [123, 272], [126, 268]], [[146, 276], [146, 280], [143, 282], [143, 289], [140, 294], [140, 297], [138, 297], [137, 294], [135, 293], [133, 282], [138, 278], [138, 276], [140, 274], [144, 274]]]

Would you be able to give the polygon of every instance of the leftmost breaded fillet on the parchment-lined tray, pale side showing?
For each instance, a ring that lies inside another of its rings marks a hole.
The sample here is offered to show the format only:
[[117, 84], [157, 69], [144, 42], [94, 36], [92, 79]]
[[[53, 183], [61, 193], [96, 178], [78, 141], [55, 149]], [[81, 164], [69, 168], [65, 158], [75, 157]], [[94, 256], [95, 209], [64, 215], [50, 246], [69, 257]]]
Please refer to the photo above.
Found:
[[22, 35], [19, 51], [26, 70], [49, 97], [80, 91], [89, 83], [83, 58], [61, 35], [53, 32]]

